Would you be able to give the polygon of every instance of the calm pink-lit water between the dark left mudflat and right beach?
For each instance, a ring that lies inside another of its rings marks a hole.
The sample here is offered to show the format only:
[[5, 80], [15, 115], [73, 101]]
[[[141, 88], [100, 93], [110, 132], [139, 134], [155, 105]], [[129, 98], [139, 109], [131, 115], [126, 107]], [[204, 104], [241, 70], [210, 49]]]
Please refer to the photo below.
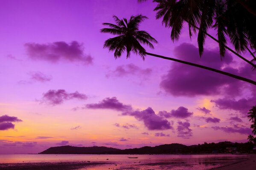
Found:
[[[138, 159], [129, 159], [137, 157]], [[112, 164], [85, 167], [80, 170], [208, 170], [246, 159], [246, 155], [38, 155], [10, 154], [0, 155], [0, 163], [44, 163], [44, 162], [110, 162]], [[108, 159], [108, 160], [107, 160]]]

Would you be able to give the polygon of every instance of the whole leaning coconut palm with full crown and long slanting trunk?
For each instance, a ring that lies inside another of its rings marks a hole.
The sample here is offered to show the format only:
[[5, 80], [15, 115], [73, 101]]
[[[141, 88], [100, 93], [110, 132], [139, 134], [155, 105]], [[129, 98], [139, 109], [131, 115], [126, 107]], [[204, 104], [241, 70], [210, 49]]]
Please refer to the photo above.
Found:
[[109, 51], [115, 51], [114, 52], [115, 58], [121, 57], [121, 55], [125, 51], [127, 52], [127, 58], [130, 57], [131, 52], [134, 52], [135, 54], [139, 54], [142, 57], [142, 59], [144, 59], [146, 55], [150, 55], [154, 57], [172, 60], [175, 62], [180, 62], [186, 65], [191, 65], [198, 68], [203, 68], [209, 71], [214, 71], [216, 73], [224, 74], [226, 76], [233, 77], [235, 79], [239, 79], [245, 82], [249, 82], [253, 85], [256, 85], [256, 82], [253, 80], [246, 79], [244, 77], [230, 74], [221, 70], [209, 68], [209, 67], [198, 65], [191, 62], [186, 62], [179, 59], [174, 59], [171, 57], [164, 57], [157, 54], [148, 53], [141, 44], [148, 45], [150, 48], [154, 48], [151, 42], [157, 43], [157, 41], [146, 31], [139, 30], [140, 23], [143, 22], [143, 20], [147, 19], [147, 17], [140, 14], [136, 16], [131, 16], [129, 20], [127, 20], [126, 18], [120, 20], [116, 16], [114, 16], [113, 18], [116, 24], [103, 23], [104, 26], [108, 26], [109, 28], [103, 28], [100, 30], [100, 32], [109, 33], [116, 36], [113, 38], [109, 38], [104, 43], [104, 48], [108, 48]]

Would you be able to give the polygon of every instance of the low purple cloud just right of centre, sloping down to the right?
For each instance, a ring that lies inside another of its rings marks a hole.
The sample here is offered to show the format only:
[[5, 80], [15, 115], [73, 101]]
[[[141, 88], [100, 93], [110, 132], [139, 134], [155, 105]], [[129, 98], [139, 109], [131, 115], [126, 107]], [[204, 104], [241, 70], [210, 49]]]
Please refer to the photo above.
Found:
[[126, 111], [122, 115], [134, 116], [138, 121], [144, 122], [148, 130], [166, 130], [172, 129], [170, 122], [156, 115], [152, 108], [147, 108], [143, 111]]

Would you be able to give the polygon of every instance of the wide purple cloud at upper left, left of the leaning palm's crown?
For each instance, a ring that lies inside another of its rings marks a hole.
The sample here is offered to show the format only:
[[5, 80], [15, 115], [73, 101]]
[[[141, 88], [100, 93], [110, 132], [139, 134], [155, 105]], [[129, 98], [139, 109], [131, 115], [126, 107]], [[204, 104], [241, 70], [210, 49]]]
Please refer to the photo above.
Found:
[[70, 43], [59, 41], [47, 44], [26, 43], [26, 52], [30, 59], [58, 62], [83, 62], [91, 64], [93, 58], [83, 52], [83, 45], [77, 41]]

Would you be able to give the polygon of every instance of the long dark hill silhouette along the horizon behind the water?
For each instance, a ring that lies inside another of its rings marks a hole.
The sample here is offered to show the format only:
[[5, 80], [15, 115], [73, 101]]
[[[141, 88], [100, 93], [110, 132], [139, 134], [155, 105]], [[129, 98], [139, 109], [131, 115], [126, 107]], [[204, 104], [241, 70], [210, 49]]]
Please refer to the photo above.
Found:
[[186, 146], [184, 144], [162, 144], [155, 147], [145, 146], [133, 149], [116, 149], [112, 147], [74, 147], [59, 146], [50, 147], [39, 154], [177, 154], [177, 153], [225, 153], [227, 147], [236, 147], [239, 152], [248, 152], [253, 148], [253, 144], [247, 143], [204, 143]]

